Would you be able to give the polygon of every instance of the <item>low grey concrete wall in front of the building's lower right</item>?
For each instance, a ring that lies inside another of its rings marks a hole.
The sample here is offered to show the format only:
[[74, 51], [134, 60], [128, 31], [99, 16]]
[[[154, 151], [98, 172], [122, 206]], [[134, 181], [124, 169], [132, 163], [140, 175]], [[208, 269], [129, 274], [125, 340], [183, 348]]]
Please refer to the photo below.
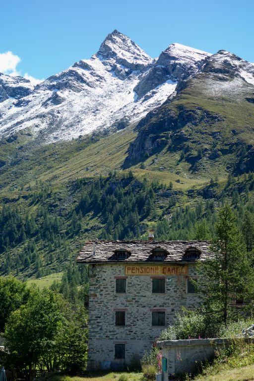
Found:
[[162, 348], [162, 357], [167, 359], [163, 380], [168, 381], [173, 374], [194, 372], [198, 365], [214, 357], [216, 349], [231, 343], [231, 339], [221, 338], [159, 341], [157, 345]]

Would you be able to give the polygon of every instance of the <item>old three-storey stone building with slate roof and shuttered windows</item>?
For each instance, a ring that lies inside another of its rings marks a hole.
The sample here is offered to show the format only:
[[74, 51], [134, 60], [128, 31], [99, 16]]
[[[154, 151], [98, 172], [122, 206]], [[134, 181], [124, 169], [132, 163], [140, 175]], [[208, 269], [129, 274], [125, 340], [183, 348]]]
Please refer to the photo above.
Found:
[[88, 363], [118, 369], [139, 360], [182, 307], [198, 303], [191, 278], [209, 242], [86, 242], [89, 264]]

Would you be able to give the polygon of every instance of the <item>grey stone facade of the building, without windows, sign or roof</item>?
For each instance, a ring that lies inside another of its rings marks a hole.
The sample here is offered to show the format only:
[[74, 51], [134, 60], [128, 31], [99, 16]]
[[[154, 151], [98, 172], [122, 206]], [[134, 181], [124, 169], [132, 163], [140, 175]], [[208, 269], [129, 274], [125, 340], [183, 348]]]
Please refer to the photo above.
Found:
[[[194, 276], [195, 266], [189, 265]], [[193, 308], [199, 302], [195, 294], [187, 294], [187, 276], [166, 276], [166, 293], [152, 293], [150, 276], [127, 276], [125, 294], [116, 293], [116, 276], [125, 276], [125, 264], [89, 265], [89, 337], [88, 360], [94, 368], [105, 365], [116, 368], [131, 365], [159, 337], [165, 327], [152, 326], [152, 309], [165, 309], [166, 326], [172, 324], [182, 306]], [[126, 311], [126, 325], [115, 325], [115, 310]], [[126, 344], [126, 359], [115, 359], [115, 344]]]

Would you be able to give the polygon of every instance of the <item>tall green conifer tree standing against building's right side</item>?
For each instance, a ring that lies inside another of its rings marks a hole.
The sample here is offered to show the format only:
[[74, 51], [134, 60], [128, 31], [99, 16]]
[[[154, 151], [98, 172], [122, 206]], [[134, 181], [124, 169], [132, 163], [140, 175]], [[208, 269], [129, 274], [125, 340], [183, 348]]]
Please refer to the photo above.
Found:
[[236, 227], [236, 218], [226, 204], [219, 211], [216, 237], [211, 245], [214, 258], [198, 262], [198, 293], [209, 319], [227, 323], [235, 318], [237, 299], [252, 298], [253, 269]]

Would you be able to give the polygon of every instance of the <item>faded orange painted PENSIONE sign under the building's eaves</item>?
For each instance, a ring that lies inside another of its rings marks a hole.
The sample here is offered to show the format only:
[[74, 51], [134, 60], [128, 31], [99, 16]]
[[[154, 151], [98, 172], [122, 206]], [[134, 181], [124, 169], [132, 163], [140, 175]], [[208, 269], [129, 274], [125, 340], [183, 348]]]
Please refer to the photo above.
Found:
[[129, 265], [126, 275], [188, 275], [188, 266], [183, 265]]

